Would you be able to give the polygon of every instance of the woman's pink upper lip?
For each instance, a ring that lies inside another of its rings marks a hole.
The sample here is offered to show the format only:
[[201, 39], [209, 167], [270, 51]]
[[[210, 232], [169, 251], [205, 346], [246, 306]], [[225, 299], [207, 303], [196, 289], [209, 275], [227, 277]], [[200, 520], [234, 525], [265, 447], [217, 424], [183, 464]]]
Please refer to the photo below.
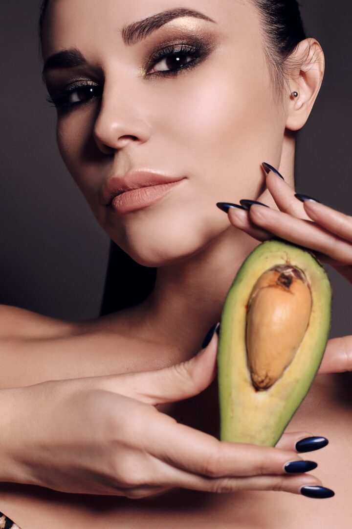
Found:
[[[113, 199], [118, 195], [131, 191], [133, 189], [140, 189], [142, 187], [157, 186], [160, 184], [172, 184], [185, 177], [173, 177], [161, 174], [159, 172], [139, 169], [128, 171], [125, 176], [114, 176], [109, 178], [103, 185], [101, 196], [105, 206], [111, 206]], [[171, 187], [171, 186], [170, 186]]]

